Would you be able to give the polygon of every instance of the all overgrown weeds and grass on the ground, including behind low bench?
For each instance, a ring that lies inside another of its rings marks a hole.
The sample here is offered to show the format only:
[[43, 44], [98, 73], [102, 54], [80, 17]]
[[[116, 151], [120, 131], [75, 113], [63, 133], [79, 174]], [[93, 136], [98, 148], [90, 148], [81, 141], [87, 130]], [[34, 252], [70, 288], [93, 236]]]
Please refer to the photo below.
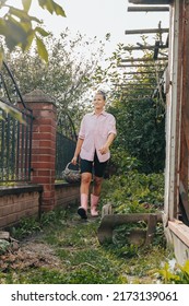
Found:
[[[137, 177], [137, 173], [132, 174], [132, 181], [127, 177], [113, 177], [104, 184], [101, 205], [111, 200], [115, 213], [156, 212], [162, 209], [163, 201], [160, 177], [162, 179], [160, 175]], [[40, 220], [29, 217], [13, 227], [15, 238], [29, 240], [32, 235], [36, 244], [43, 242], [51, 248], [60, 263], [58, 268], [44, 267], [43, 260], [26, 269], [8, 266], [1, 269], [0, 282], [123, 284], [162, 281], [157, 270], [173, 257], [166, 248], [162, 224], [157, 224], [156, 235], [147, 247], [133, 245], [126, 238], [132, 227], [145, 229], [143, 222], [117, 227], [113, 243], [101, 245], [97, 239], [101, 219], [90, 217], [83, 222], [75, 212], [74, 205], [59, 208], [43, 214]]]

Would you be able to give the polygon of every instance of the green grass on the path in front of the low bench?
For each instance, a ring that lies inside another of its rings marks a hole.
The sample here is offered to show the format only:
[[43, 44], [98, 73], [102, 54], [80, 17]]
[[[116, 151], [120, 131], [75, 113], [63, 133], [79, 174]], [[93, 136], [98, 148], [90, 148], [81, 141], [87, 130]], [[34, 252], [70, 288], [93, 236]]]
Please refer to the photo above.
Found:
[[[52, 249], [59, 264], [7, 264], [0, 270], [0, 283], [7, 284], [123, 284], [160, 282], [155, 271], [163, 267], [170, 254], [161, 244], [137, 247], [117, 243], [101, 245], [97, 239], [99, 219], [81, 221], [76, 208], [56, 210], [32, 222], [33, 242]], [[24, 224], [24, 237], [29, 229]], [[29, 221], [28, 221], [29, 228]], [[14, 235], [21, 238], [21, 227]], [[157, 233], [158, 234], [158, 233]], [[28, 239], [28, 237], [27, 237]], [[9, 259], [7, 258], [9, 261]]]

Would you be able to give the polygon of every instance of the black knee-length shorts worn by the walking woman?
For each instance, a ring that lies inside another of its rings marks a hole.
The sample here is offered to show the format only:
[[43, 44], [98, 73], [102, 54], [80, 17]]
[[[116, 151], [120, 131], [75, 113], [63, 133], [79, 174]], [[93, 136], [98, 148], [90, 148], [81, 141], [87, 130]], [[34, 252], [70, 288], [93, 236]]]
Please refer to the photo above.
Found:
[[97, 177], [103, 177], [108, 161], [101, 163], [95, 152], [94, 161], [86, 161], [81, 158], [81, 173], [91, 173]]

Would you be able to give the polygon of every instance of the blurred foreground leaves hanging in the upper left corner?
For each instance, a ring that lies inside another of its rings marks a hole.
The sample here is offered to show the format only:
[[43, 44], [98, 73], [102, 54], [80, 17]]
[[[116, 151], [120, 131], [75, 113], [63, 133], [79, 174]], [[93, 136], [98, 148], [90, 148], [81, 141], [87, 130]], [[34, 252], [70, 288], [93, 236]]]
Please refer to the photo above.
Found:
[[[32, 0], [20, 0], [22, 9], [9, 5], [7, 0], [0, 1], [0, 10], [4, 10], [4, 15], [0, 17], [0, 36], [4, 37], [5, 46], [12, 51], [15, 46], [26, 51], [36, 40], [38, 55], [47, 62], [48, 52], [44, 45], [43, 37], [49, 35], [42, 27], [42, 21], [29, 15]], [[19, 2], [19, 1], [16, 1]], [[38, 0], [38, 5], [47, 10], [50, 14], [66, 16], [63, 9], [54, 0]], [[0, 46], [0, 67], [3, 58], [3, 44]]]

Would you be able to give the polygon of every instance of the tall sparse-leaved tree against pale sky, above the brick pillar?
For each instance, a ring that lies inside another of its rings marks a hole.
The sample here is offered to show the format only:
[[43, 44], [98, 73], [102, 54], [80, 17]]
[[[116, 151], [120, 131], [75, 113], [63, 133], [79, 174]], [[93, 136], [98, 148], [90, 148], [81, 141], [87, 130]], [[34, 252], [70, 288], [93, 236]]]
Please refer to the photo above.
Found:
[[17, 81], [22, 94], [40, 89], [56, 98], [58, 118], [64, 114], [79, 127], [83, 113], [91, 105], [90, 90], [96, 87], [96, 71], [103, 56], [104, 43], [78, 33], [74, 37], [67, 28], [59, 38], [46, 38], [49, 54], [46, 64], [37, 50], [5, 52], [5, 60]]

